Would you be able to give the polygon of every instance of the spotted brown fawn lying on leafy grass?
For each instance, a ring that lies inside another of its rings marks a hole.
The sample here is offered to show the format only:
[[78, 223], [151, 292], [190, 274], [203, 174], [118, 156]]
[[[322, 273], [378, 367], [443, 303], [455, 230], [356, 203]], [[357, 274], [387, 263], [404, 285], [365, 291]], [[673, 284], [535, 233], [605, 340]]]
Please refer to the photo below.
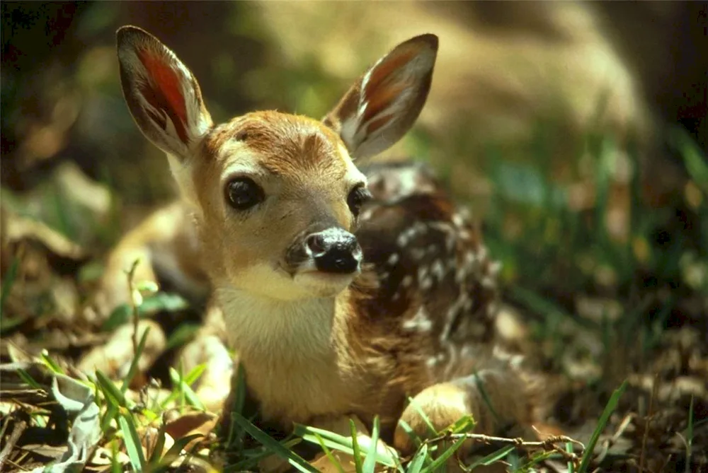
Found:
[[153, 218], [124, 249], [182, 242], [172, 269], [208, 281], [263, 419], [378, 415], [404, 452], [399, 419], [428, 429], [409, 396], [440, 430], [465, 414], [481, 433], [530, 426], [527, 377], [492, 354], [498, 268], [476, 226], [421, 165], [355, 165], [415, 122], [435, 35], [395, 47], [321, 120], [264, 111], [224, 124], [159, 40], [133, 26], [117, 38], [127, 105], [182, 197], [166, 211], [176, 218]]

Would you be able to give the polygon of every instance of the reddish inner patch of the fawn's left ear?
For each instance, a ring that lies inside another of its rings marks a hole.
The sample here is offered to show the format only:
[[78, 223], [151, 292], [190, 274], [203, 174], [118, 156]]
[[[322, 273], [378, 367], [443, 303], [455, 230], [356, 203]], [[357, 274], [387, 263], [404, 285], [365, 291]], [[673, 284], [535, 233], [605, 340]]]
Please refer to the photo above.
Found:
[[186, 143], [187, 108], [177, 72], [164, 59], [147, 50], [140, 51], [139, 57], [152, 82], [151, 88], [141, 92], [150, 105], [167, 113], [180, 139]]

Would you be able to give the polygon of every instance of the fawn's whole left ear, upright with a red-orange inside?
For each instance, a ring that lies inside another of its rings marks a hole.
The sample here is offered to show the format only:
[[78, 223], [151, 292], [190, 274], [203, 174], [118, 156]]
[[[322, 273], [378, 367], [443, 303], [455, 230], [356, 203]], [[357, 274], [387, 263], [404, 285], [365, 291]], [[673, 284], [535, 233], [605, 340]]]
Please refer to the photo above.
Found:
[[139, 129], [180, 160], [212, 126], [197, 79], [168, 47], [135, 26], [116, 32], [120, 83]]

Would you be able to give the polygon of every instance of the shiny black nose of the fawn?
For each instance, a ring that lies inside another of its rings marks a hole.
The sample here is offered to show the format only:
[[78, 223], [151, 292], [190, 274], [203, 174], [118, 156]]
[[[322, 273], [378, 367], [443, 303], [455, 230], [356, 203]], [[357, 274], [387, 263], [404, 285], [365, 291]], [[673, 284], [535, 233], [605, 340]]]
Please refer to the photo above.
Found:
[[327, 273], [352, 273], [361, 262], [361, 248], [356, 237], [341, 228], [327, 228], [312, 233], [306, 240], [317, 269]]

